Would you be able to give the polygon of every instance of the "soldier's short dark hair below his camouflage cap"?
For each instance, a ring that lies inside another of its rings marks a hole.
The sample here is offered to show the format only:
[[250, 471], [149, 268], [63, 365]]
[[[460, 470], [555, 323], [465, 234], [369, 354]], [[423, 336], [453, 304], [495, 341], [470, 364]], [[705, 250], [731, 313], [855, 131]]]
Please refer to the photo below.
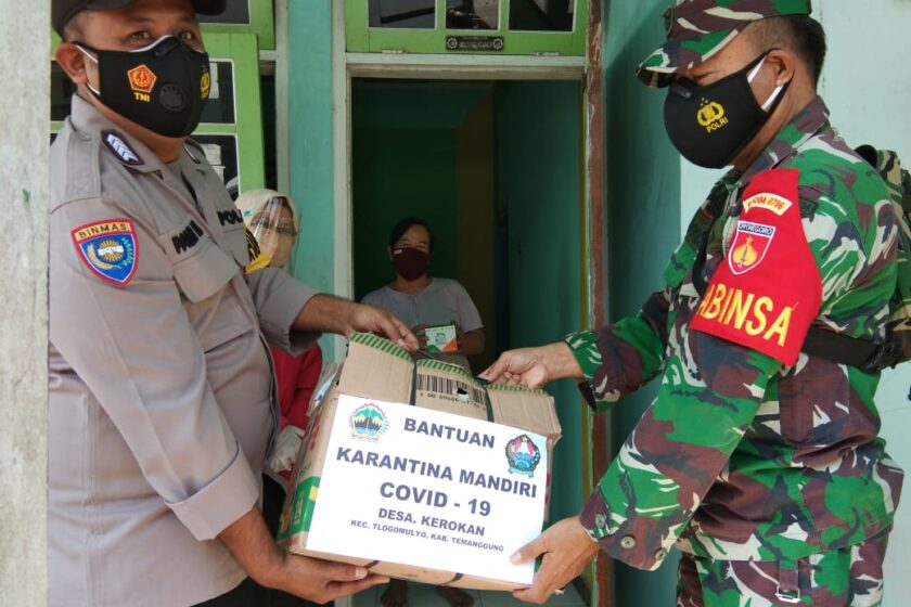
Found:
[[785, 47], [804, 62], [813, 85], [819, 85], [822, 66], [825, 63], [825, 30], [809, 15], [787, 15], [768, 17], [749, 26], [758, 50], [768, 51], [775, 47]]

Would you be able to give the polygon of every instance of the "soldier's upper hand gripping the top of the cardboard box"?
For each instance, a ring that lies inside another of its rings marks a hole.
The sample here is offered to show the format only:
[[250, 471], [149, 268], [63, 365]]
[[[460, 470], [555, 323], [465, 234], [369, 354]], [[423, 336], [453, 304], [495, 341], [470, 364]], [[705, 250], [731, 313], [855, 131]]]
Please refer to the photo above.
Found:
[[480, 376], [495, 384], [541, 388], [564, 377], [581, 380], [582, 370], [569, 347], [557, 341], [538, 348], [503, 352]]

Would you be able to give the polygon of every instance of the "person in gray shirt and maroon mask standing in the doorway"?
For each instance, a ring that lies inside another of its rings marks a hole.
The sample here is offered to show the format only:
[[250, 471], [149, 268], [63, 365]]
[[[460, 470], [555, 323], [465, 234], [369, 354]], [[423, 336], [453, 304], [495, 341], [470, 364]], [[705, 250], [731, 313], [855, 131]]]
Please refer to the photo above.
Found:
[[[451, 279], [431, 276], [433, 250], [434, 233], [426, 222], [409, 217], [396, 223], [386, 249], [396, 277], [369, 293], [363, 304], [383, 308], [400, 318], [418, 336], [424, 356], [471, 371], [466, 356], [484, 351], [484, 325], [465, 287]], [[433, 348], [434, 344], [427, 344], [425, 330], [444, 325], [455, 327], [457, 348], [449, 353], [428, 352], [428, 347]], [[474, 604], [474, 599], [459, 589], [437, 586], [437, 592], [452, 607], [471, 607]], [[408, 607], [405, 580], [392, 580], [380, 602], [385, 607]]]

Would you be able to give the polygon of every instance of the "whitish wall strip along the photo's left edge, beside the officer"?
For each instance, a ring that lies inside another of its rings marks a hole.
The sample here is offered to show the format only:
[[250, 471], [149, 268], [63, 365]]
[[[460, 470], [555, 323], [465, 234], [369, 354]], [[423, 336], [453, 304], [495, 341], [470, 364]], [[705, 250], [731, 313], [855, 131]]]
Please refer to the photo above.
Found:
[[0, 603], [47, 604], [50, 2], [0, 0]]

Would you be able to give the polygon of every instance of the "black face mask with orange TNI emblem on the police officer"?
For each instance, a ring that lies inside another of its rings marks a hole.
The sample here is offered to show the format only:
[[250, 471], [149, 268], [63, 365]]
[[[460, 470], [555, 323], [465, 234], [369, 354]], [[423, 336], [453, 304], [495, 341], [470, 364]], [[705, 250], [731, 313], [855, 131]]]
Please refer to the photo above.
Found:
[[101, 90], [89, 90], [124, 118], [164, 137], [187, 137], [198, 126], [211, 83], [208, 54], [174, 36], [138, 51], [76, 44], [98, 63]]

